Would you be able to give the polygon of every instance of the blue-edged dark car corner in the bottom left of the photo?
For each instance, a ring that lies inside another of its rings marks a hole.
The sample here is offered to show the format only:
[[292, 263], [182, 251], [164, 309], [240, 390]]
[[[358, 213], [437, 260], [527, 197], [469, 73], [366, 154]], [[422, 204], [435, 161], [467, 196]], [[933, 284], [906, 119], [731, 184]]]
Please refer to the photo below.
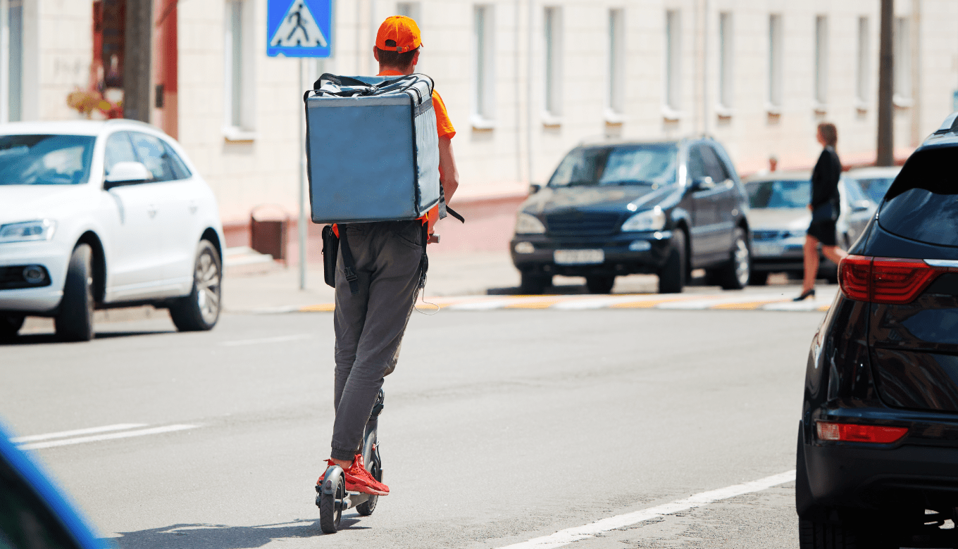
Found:
[[0, 547], [96, 549], [80, 516], [34, 461], [0, 428]]

